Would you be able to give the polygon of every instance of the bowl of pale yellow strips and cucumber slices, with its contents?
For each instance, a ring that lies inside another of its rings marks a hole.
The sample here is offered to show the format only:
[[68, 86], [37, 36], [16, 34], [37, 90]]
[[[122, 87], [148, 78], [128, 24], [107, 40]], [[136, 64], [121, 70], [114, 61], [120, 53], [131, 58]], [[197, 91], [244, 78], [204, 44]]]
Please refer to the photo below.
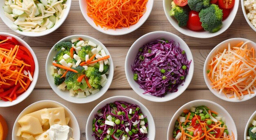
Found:
[[13, 31], [24, 36], [45, 36], [63, 24], [72, 0], [4, 0], [0, 18]]

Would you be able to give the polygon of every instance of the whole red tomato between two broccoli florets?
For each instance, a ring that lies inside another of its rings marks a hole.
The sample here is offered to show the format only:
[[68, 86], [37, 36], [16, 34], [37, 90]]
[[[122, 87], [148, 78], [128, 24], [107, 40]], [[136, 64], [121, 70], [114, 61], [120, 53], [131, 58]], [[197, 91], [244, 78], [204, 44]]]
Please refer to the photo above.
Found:
[[189, 12], [189, 20], [186, 27], [188, 27], [192, 31], [200, 31], [203, 29], [203, 27], [201, 26], [202, 22], [200, 22], [198, 14], [199, 13], [197, 11]]

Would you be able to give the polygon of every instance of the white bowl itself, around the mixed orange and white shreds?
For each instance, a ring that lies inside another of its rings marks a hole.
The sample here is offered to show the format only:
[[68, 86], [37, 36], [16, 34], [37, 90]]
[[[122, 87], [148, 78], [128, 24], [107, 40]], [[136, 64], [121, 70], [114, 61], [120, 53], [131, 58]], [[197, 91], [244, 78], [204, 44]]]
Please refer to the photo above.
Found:
[[[249, 100], [249, 99], [255, 97], [256, 94], [251, 94], [251, 96], [245, 95], [242, 100], [236, 100], [235, 98], [229, 99], [229, 98], [227, 98], [225, 96], [224, 93], [219, 94], [219, 91], [217, 91], [216, 89], [212, 89], [212, 87], [213, 87], [213, 85], [211, 85], [212, 82], [211, 82], [211, 80], [207, 76], [207, 70], [209, 69], [208, 64], [210, 64], [211, 58], [216, 56], [216, 53], [218, 51], [223, 52], [224, 49], [227, 49], [229, 43], [230, 43], [230, 46], [232, 47], [232, 46], [238, 44], [241, 41], [247, 42], [247, 41], [250, 41], [250, 40], [247, 40], [245, 38], [231, 38], [231, 39], [225, 40], [225, 41], [221, 42], [220, 44], [218, 44], [216, 47], [214, 47], [211, 50], [211, 52], [209, 53], [209, 55], [207, 56], [207, 58], [206, 58], [206, 60], [204, 62], [204, 81], [205, 81], [207, 87], [210, 89], [210, 91], [215, 96], [217, 96], [218, 98], [220, 98], [222, 100], [229, 101], [229, 102], [242, 102], [242, 101], [246, 101], [246, 100]], [[248, 44], [249, 44], [249, 46], [254, 46], [254, 48], [256, 49], [256, 43], [251, 41]], [[256, 92], [256, 89], [254, 89], [254, 92]]]

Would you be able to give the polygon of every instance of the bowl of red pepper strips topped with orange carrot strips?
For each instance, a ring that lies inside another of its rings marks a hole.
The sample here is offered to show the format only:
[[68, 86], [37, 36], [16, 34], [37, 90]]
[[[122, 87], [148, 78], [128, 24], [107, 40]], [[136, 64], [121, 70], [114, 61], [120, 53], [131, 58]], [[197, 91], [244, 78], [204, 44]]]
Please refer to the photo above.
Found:
[[38, 79], [38, 61], [34, 51], [22, 39], [0, 33], [0, 107], [25, 100]]

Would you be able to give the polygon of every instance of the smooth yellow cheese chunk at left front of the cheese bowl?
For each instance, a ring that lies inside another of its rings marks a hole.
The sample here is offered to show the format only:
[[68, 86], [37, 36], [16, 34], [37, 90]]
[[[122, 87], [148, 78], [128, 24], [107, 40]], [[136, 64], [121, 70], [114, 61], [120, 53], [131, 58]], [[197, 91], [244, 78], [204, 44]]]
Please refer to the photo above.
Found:
[[23, 134], [29, 133], [31, 135], [38, 135], [43, 133], [40, 121], [33, 116], [23, 116], [18, 120], [18, 123], [21, 125], [21, 132], [23, 132]]

